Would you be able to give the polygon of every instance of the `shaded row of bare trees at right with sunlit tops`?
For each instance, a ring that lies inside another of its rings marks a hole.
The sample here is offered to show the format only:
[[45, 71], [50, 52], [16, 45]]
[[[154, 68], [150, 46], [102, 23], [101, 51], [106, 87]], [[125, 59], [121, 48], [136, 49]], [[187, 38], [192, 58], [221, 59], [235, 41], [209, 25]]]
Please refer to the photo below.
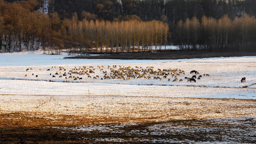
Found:
[[242, 14], [231, 20], [228, 15], [220, 19], [196, 17], [180, 20], [176, 24], [177, 37], [173, 41], [180, 49], [207, 51], [256, 51], [256, 19]]

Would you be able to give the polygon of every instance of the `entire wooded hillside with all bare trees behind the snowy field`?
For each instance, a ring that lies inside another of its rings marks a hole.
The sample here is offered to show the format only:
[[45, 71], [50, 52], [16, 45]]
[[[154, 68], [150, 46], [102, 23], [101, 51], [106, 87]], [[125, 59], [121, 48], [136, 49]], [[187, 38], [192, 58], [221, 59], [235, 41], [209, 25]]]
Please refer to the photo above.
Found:
[[[255, 52], [254, 0], [0, 0], [0, 50]], [[54, 11], [53, 11], [54, 10]], [[159, 46], [159, 48], [158, 48]], [[164, 46], [164, 48], [165, 48]]]

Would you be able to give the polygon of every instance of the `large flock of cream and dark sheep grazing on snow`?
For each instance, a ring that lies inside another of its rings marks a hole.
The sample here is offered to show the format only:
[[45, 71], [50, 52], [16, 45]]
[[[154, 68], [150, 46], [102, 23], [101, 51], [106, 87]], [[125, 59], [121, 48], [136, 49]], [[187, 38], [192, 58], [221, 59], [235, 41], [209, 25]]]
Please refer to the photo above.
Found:
[[[102, 77], [95, 74], [95, 70], [98, 69], [102, 73]], [[30, 68], [32, 70], [32, 68]], [[42, 69], [39, 69], [42, 70]], [[122, 67], [122, 66], [97, 66], [97, 68], [94, 68], [93, 66], [90, 67], [74, 67], [70, 70], [67, 70], [64, 67], [52, 67], [52, 69], [46, 69], [47, 71], [51, 72], [54, 71], [54, 73], [49, 73], [49, 75], [52, 78], [64, 78], [64, 79], [74, 79], [74, 80], [83, 80], [82, 77], [87, 78], [93, 78], [93, 79], [123, 79], [123, 80], [129, 80], [131, 78], [133, 79], [159, 79], [160, 81], [163, 79], [168, 79], [168, 81], [171, 81], [171, 78], [174, 78], [172, 82], [182, 82], [183, 79], [180, 77], [185, 76], [185, 71], [181, 69], [157, 69], [154, 70], [154, 67], [146, 67], [143, 69], [142, 67], [136, 66], [135, 68], [129, 67]], [[108, 70], [108, 71], [107, 71]], [[27, 69], [29, 71], [29, 68]], [[195, 73], [195, 75], [193, 75]], [[192, 74], [190, 77], [184, 77], [187, 79], [187, 82], [196, 82], [197, 80], [200, 80], [202, 78], [202, 75], [199, 74], [196, 70], [193, 70], [190, 72]], [[34, 74], [32, 74], [33, 76]], [[198, 77], [196, 77], [198, 75]], [[25, 75], [27, 76], [27, 74]], [[203, 76], [210, 76], [209, 74], [204, 74]], [[38, 77], [38, 75], [36, 75]], [[180, 78], [180, 79], [179, 79]]]

